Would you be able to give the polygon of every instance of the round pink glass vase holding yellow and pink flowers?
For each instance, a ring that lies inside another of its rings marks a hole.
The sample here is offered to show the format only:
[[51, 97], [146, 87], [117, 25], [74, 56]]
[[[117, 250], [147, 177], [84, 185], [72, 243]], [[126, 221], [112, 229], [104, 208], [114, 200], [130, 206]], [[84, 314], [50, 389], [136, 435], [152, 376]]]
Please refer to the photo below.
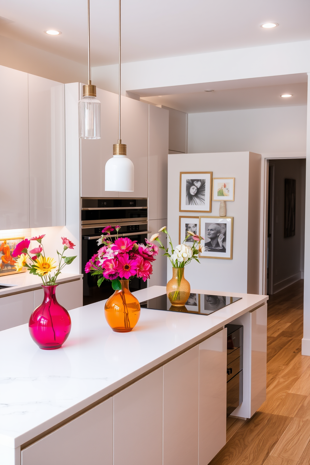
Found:
[[71, 331], [71, 318], [56, 299], [56, 287], [42, 286], [44, 299], [29, 319], [29, 332], [40, 349], [58, 349]]

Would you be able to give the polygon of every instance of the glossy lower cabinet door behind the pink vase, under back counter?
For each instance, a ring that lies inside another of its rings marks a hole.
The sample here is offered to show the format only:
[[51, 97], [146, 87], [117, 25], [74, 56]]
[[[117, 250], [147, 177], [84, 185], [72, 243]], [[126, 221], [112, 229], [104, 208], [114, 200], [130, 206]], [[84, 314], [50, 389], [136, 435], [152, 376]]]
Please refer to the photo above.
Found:
[[[43, 301], [43, 289], [34, 292], [33, 307], [37, 308]], [[83, 280], [77, 279], [68, 283], [61, 283], [56, 289], [56, 299], [66, 310], [73, 310], [83, 306]]]

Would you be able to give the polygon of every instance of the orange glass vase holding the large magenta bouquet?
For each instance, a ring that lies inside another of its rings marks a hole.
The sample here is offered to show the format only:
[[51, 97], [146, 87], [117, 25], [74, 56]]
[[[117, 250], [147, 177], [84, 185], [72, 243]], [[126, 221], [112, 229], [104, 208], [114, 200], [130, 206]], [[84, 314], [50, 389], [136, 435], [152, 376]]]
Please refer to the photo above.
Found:
[[121, 279], [122, 288], [107, 299], [105, 316], [108, 325], [115, 332], [129, 332], [140, 317], [140, 304], [130, 292], [127, 279]]

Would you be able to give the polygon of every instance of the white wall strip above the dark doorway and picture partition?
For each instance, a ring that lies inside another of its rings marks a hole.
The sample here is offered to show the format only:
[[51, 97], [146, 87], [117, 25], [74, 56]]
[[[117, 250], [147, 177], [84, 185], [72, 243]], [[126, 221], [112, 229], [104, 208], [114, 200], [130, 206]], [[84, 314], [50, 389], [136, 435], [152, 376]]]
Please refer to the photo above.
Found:
[[307, 106], [188, 115], [188, 153], [305, 152]]

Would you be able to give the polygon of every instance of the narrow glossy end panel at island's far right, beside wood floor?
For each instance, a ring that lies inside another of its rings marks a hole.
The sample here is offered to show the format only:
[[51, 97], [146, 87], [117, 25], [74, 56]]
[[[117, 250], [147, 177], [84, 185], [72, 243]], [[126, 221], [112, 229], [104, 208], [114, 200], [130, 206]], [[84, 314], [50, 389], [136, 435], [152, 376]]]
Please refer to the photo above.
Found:
[[251, 416], [266, 400], [267, 304], [250, 312], [251, 328]]

